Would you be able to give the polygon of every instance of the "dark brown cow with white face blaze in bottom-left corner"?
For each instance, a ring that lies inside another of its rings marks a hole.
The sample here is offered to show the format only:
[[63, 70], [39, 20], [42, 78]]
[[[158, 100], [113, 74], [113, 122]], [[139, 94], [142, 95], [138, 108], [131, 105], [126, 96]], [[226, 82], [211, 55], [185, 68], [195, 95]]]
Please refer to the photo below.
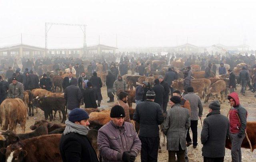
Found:
[[59, 145], [61, 134], [50, 134], [22, 140], [1, 148], [6, 161], [12, 162], [14, 158], [20, 162], [62, 162]]

